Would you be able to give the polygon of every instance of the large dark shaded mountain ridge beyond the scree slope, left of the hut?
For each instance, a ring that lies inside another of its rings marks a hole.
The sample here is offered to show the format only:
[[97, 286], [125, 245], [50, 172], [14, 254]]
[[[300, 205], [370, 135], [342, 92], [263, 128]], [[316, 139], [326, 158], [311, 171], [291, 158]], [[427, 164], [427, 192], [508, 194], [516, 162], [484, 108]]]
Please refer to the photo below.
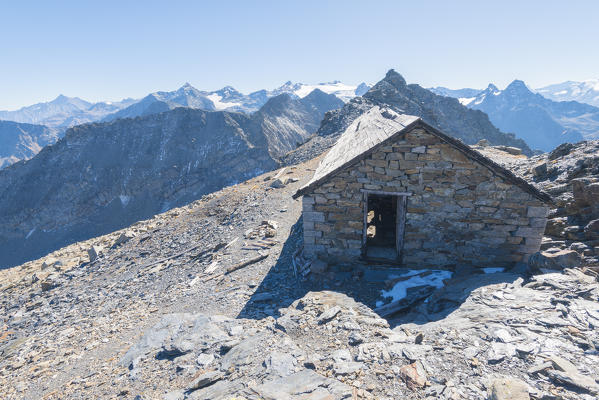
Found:
[[186, 108], [71, 128], [0, 171], [0, 267], [114, 231], [272, 170], [343, 103], [318, 90], [247, 115]]

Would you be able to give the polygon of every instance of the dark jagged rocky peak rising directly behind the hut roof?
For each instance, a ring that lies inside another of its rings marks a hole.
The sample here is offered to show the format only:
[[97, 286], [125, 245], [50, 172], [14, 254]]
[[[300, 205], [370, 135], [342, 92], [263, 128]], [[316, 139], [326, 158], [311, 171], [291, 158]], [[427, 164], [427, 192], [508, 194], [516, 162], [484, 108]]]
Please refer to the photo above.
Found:
[[491, 144], [515, 146], [530, 154], [531, 150], [513, 134], [494, 127], [487, 115], [461, 105], [456, 99], [439, 96], [419, 85], [406, 84], [403, 77], [390, 70], [383, 80], [361, 98], [352, 99], [341, 110], [327, 113], [318, 131], [320, 136], [336, 135], [373, 105], [389, 106], [398, 112], [421, 117], [443, 132], [474, 144], [487, 139]]

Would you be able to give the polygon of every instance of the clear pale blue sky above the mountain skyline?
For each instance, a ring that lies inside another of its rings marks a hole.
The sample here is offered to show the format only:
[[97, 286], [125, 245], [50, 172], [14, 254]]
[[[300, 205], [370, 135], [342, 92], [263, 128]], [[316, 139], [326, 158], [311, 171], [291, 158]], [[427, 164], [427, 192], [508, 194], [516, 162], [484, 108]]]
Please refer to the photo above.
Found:
[[532, 87], [599, 78], [599, 1], [2, 1], [0, 109], [186, 81]]

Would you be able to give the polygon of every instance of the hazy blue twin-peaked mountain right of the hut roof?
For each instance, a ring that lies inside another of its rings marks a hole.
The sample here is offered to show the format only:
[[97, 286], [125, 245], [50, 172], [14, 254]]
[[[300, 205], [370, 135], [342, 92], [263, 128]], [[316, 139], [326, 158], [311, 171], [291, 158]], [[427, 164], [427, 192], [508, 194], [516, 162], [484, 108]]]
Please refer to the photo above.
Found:
[[499, 129], [514, 132], [543, 151], [561, 143], [599, 137], [599, 108], [546, 99], [519, 80], [505, 90], [489, 85], [468, 106], [484, 111]]

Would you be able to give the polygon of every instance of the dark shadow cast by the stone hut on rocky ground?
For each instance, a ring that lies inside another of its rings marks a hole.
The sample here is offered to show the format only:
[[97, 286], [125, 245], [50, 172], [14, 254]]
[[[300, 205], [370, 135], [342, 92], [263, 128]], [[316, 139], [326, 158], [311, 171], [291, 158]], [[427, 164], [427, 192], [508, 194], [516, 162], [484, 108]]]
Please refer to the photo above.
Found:
[[[279, 309], [286, 308], [310, 291], [329, 290], [343, 293], [375, 309], [377, 302], [389, 301], [381, 296], [410, 268], [354, 263], [330, 265], [324, 274], [309, 274], [306, 279], [294, 273], [292, 256], [302, 242], [301, 218], [293, 225], [276, 264], [270, 269], [241, 310], [238, 318], [278, 318]], [[493, 266], [489, 266], [493, 267]], [[452, 278], [443, 288], [414, 287], [407, 290], [405, 308], [384, 315], [393, 328], [400, 324], [425, 324], [445, 318], [459, 308], [475, 289], [500, 283], [512, 283], [523, 274], [515, 270], [485, 274], [480, 269], [454, 267]], [[423, 270], [423, 276], [427, 270]], [[424, 290], [423, 290], [424, 289]], [[426, 295], [423, 296], [423, 293]], [[380, 305], [380, 303], [379, 303]]]

